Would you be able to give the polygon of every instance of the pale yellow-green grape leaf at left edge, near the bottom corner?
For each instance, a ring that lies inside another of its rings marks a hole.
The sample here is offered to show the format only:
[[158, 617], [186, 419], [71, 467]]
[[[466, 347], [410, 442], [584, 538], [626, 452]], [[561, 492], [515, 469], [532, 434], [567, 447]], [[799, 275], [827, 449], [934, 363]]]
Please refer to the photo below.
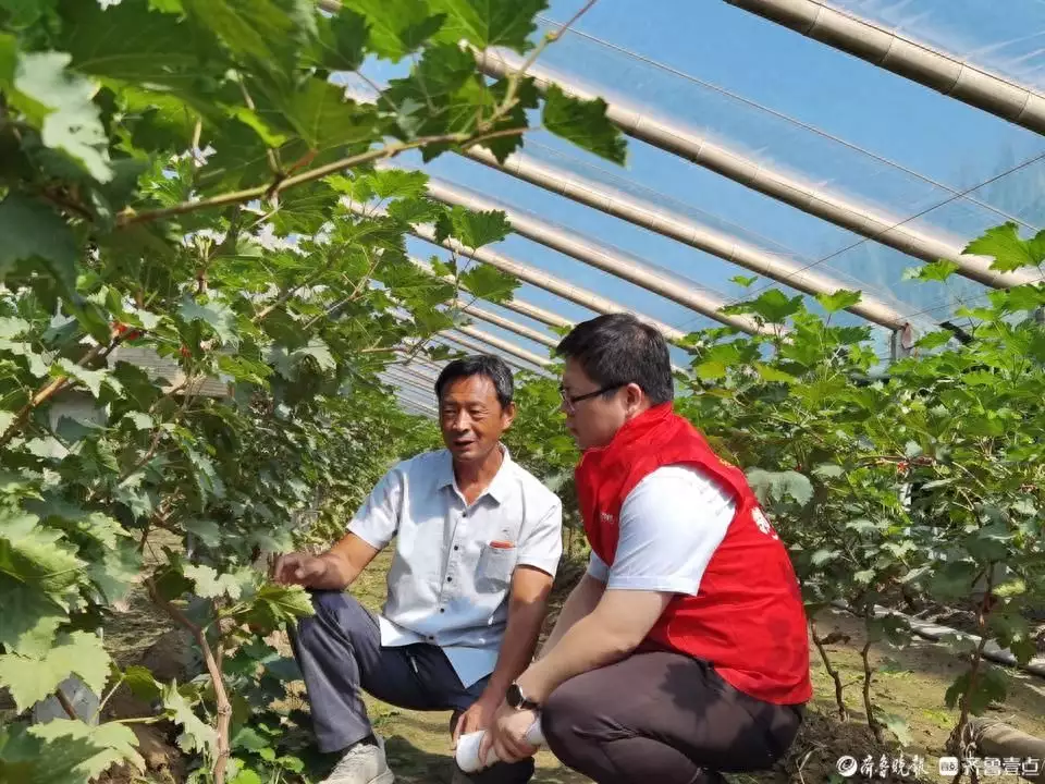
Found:
[[0, 656], [0, 685], [8, 687], [21, 711], [54, 691], [70, 674], [79, 675], [89, 689], [101, 694], [109, 678], [109, 654], [98, 637], [73, 632], [41, 658]]

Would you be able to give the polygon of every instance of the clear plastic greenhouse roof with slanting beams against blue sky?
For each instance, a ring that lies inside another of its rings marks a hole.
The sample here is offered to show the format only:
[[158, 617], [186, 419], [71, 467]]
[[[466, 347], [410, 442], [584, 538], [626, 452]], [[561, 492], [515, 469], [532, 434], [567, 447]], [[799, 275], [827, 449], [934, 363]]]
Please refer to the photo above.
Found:
[[[582, 4], [552, 0], [537, 35]], [[504, 167], [482, 150], [392, 166], [423, 168], [438, 200], [508, 213], [515, 233], [462, 260], [522, 270], [519, 302], [476, 303], [470, 334], [450, 336], [492, 338], [520, 366], [550, 356], [553, 326], [610, 310], [674, 340], [720, 321], [750, 331], [718, 309], [769, 287], [802, 294], [814, 311], [816, 292], [860, 290], [841, 317], [871, 324], [887, 359], [897, 330], [935, 329], [992, 287], [1037, 279], [998, 273], [966, 248], [1003, 223], [1023, 236], [1045, 225], [1043, 44], [1041, 0], [1004, 11], [991, 0], [673, 0], [641, 11], [606, 0], [529, 73], [602, 96], [628, 134], [626, 166], [543, 131]], [[491, 74], [520, 62], [483, 56]], [[380, 65], [343, 75], [349, 93], [399, 75]], [[446, 258], [430, 240], [411, 237], [410, 253]], [[909, 279], [938, 258], [958, 273]], [[428, 375], [397, 380], [418, 388], [405, 393], [417, 409], [432, 402]]]

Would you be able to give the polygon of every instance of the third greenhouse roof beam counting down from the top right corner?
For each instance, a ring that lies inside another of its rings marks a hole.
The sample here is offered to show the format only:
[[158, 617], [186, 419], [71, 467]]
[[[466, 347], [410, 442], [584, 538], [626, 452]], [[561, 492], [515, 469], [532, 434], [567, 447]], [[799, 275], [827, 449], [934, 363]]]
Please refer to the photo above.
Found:
[[[538, 162], [519, 154], [509, 156], [504, 164], [500, 164], [492, 152], [477, 147], [466, 155], [491, 169], [703, 250], [729, 264], [759, 272], [806, 294], [815, 296], [852, 289], [829, 275], [810, 270], [808, 265], [755, 247], [678, 212], [662, 209], [618, 191], [608, 191], [601, 183], [578, 176], [568, 169]], [[899, 310], [865, 294], [862, 294], [859, 303], [846, 309], [890, 330], [902, 329], [907, 323]]]

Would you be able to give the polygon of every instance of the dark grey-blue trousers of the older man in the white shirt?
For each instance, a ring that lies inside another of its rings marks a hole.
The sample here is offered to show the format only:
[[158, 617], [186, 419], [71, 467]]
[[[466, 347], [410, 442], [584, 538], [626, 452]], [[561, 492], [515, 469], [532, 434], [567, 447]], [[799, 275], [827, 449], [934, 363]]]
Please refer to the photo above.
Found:
[[[341, 591], [312, 591], [316, 614], [303, 618], [294, 654], [308, 689], [316, 739], [321, 751], [339, 751], [372, 732], [361, 690], [398, 708], [454, 711], [451, 726], [482, 695], [489, 676], [465, 688], [438, 646], [381, 646], [378, 621]], [[495, 764], [476, 782], [522, 784], [533, 760]]]

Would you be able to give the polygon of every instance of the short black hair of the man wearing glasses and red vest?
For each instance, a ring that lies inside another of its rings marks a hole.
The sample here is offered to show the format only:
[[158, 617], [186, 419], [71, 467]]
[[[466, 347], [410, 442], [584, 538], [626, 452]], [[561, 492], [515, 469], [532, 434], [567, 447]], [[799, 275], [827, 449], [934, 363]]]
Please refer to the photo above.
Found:
[[636, 383], [653, 405], [675, 397], [672, 357], [664, 335], [631, 314], [607, 314], [582, 321], [555, 351], [575, 359], [600, 387]]

